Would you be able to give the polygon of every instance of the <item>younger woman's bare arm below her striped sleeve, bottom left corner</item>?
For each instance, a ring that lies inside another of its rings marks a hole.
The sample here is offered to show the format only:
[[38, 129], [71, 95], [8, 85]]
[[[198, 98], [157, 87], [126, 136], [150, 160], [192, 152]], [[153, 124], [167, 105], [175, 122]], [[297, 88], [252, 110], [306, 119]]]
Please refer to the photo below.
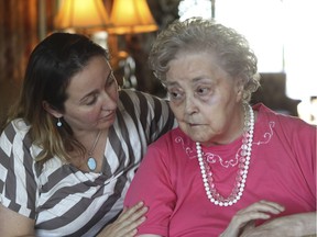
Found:
[[34, 219], [28, 218], [0, 204], [0, 236], [35, 236]]

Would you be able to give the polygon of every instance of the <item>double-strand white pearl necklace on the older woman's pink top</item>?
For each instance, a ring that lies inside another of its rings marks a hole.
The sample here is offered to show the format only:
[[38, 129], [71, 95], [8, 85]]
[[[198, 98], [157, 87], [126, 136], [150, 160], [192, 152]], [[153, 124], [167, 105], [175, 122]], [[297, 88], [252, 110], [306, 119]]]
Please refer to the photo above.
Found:
[[[249, 108], [249, 113], [247, 108]], [[204, 159], [204, 153], [200, 146], [200, 143], [196, 143], [196, 150], [198, 162], [200, 166], [200, 171], [203, 176], [204, 187], [206, 190], [207, 198], [209, 201], [219, 206], [230, 206], [237, 203], [244, 191], [249, 165], [250, 165], [250, 157], [252, 150], [252, 140], [253, 140], [253, 131], [254, 131], [254, 112], [249, 104], [243, 104], [244, 109], [244, 127], [243, 127], [243, 138], [241, 145], [241, 158], [240, 158], [240, 169], [237, 176], [237, 183], [234, 184], [231, 194], [226, 199], [223, 198], [217, 190], [216, 185], [212, 182], [212, 172]], [[248, 120], [249, 114], [249, 120]]]

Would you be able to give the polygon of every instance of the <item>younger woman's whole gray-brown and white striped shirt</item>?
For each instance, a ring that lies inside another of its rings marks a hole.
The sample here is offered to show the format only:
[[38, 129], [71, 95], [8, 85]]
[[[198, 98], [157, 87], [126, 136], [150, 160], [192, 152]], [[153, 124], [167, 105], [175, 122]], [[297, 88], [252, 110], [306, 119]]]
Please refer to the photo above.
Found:
[[[36, 236], [96, 236], [113, 222], [146, 147], [174, 126], [164, 100], [120, 91], [117, 119], [109, 128], [102, 172], [83, 172], [53, 157], [39, 169], [23, 120], [0, 137], [0, 202], [35, 219]], [[107, 159], [106, 159], [107, 157]]]

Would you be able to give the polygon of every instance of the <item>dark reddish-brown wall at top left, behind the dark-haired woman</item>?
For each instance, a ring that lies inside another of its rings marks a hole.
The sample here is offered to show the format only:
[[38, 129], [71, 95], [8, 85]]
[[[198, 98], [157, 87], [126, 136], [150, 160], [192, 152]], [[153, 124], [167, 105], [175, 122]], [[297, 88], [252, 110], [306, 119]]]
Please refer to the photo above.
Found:
[[[43, 0], [0, 0], [0, 121], [15, 101], [28, 58], [39, 42], [39, 3]], [[55, 0], [45, 0], [52, 21]]]

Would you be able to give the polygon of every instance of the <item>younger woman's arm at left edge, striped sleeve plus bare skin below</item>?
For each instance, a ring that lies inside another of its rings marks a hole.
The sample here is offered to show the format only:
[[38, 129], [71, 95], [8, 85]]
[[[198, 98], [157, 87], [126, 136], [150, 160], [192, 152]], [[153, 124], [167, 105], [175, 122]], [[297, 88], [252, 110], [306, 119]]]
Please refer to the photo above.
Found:
[[[19, 127], [20, 128], [20, 127]], [[18, 132], [11, 122], [0, 136], [0, 236], [35, 236], [35, 193], [33, 162], [24, 142], [26, 125]], [[14, 140], [14, 143], [13, 143]], [[21, 150], [23, 150], [21, 153]], [[23, 154], [23, 156], [21, 155]], [[17, 172], [17, 170], [19, 170]], [[28, 180], [28, 181], [26, 181]], [[19, 187], [19, 189], [15, 189]], [[25, 189], [23, 189], [25, 188]], [[25, 199], [18, 199], [23, 196]], [[19, 200], [19, 201], [17, 201]], [[12, 206], [7, 207], [7, 206]]]

